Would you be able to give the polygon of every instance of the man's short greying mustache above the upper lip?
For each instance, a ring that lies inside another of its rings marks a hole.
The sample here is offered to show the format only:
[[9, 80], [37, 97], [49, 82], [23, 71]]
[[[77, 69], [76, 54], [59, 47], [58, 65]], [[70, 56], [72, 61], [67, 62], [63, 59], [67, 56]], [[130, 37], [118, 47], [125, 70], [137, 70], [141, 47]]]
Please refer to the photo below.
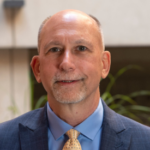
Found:
[[85, 78], [86, 78], [85, 75], [59, 73], [54, 76], [53, 82], [62, 81], [62, 80], [83, 80]]

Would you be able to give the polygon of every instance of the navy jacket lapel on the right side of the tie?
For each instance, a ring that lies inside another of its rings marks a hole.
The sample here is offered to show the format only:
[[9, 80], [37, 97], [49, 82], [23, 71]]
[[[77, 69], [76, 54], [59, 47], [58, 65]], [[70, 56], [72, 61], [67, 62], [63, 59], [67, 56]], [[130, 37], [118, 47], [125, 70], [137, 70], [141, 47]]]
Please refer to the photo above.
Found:
[[121, 116], [111, 110], [102, 101], [104, 120], [100, 150], [128, 150], [131, 139], [131, 129], [126, 128]]

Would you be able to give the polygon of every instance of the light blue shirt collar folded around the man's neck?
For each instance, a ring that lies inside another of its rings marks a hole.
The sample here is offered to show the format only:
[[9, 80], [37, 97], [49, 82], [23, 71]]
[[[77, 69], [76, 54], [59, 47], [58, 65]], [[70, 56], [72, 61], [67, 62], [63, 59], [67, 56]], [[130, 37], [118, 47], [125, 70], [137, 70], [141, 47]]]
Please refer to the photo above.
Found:
[[[68, 123], [61, 120], [50, 108], [47, 103], [47, 116], [49, 122], [49, 128], [52, 132], [55, 140], [58, 140], [62, 135], [64, 135], [68, 130], [73, 127]], [[92, 123], [91, 123], [92, 122]], [[82, 123], [74, 127], [75, 130], [79, 131], [81, 134], [87, 138], [93, 140], [96, 136], [96, 133], [102, 126], [103, 122], [103, 106], [101, 99], [99, 101], [98, 107], [96, 110]], [[85, 128], [86, 127], [86, 128]]]

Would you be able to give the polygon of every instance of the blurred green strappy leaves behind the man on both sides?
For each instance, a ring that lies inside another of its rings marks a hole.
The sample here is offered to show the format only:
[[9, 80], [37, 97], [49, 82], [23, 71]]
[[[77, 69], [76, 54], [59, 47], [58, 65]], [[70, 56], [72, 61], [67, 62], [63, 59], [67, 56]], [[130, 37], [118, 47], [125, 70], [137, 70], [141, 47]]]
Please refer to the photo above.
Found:
[[[142, 70], [142, 68], [137, 65], [129, 65], [120, 69], [114, 76], [111, 73], [109, 73], [108, 78], [110, 82], [108, 83], [107, 88], [105, 92], [101, 95], [101, 97], [111, 109], [113, 109], [119, 114], [132, 118], [141, 123], [142, 123], [141, 118], [143, 116], [146, 116], [147, 120], [150, 121], [150, 117], [148, 115], [148, 113], [150, 113], [150, 107], [138, 105], [136, 101], [134, 100], [134, 98], [138, 96], [150, 95], [150, 91], [141, 90], [141, 91], [133, 92], [129, 95], [122, 95], [122, 94], [112, 95], [111, 94], [111, 89], [114, 84], [117, 84], [116, 83], [117, 79], [130, 69], [136, 69], [139, 71]], [[33, 91], [34, 90], [32, 90], [32, 99], [33, 99]], [[46, 95], [41, 96], [40, 99], [37, 101], [34, 109], [37, 109], [43, 106], [46, 102], [47, 102], [47, 96]]]

